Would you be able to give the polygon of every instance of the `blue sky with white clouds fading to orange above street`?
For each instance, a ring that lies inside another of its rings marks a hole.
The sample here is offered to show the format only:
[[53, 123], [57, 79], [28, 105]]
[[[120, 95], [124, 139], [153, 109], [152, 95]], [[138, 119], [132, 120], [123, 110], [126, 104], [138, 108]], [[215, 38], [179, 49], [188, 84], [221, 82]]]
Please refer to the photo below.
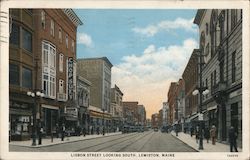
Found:
[[171, 82], [181, 78], [198, 47], [197, 10], [75, 9], [77, 58], [107, 57], [113, 64], [112, 87], [124, 101], [138, 101], [147, 118], [167, 101]]

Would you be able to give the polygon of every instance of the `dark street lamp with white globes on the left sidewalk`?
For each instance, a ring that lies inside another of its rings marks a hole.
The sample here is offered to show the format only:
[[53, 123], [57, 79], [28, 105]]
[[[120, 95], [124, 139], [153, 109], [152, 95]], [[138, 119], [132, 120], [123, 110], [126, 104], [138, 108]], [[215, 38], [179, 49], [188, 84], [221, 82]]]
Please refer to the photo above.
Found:
[[35, 92], [31, 92], [28, 91], [27, 92], [28, 96], [31, 96], [32, 98], [34, 98], [34, 104], [35, 106], [33, 107], [32, 110], [32, 114], [33, 114], [33, 128], [32, 128], [32, 146], [36, 146], [36, 114], [37, 114], [37, 99], [38, 97], [44, 97], [44, 93], [40, 92], [40, 91], [35, 91]]

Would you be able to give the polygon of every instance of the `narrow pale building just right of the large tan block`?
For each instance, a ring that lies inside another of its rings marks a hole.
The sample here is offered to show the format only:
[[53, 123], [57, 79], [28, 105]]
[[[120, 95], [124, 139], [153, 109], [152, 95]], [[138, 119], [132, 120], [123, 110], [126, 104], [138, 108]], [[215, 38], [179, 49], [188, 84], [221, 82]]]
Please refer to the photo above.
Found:
[[123, 93], [117, 85], [115, 85], [114, 88], [111, 88], [110, 112], [112, 115], [113, 130], [117, 130], [117, 128], [119, 128], [120, 130], [122, 127], [122, 122], [123, 122], [122, 97]]

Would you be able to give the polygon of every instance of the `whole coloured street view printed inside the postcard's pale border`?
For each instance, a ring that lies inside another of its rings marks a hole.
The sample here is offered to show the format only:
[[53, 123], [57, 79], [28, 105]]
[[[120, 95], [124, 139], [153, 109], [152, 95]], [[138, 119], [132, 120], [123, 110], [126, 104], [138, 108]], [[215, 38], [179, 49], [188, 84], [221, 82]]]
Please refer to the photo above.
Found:
[[10, 152], [242, 152], [241, 9], [9, 17]]

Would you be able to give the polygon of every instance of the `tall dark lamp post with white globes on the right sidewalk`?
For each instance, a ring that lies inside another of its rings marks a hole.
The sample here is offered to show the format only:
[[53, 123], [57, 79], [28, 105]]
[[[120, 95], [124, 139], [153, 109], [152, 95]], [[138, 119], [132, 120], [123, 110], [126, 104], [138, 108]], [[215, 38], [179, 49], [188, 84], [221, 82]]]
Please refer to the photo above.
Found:
[[199, 94], [200, 99], [200, 105], [199, 105], [199, 135], [200, 135], [200, 141], [199, 141], [199, 150], [203, 150], [203, 134], [202, 134], [202, 121], [203, 121], [203, 114], [202, 114], [202, 95], [206, 95], [209, 93], [209, 90], [207, 87], [202, 86], [202, 53], [201, 50], [199, 50], [199, 87], [197, 87], [196, 90], [192, 92], [192, 94], [195, 96]]

